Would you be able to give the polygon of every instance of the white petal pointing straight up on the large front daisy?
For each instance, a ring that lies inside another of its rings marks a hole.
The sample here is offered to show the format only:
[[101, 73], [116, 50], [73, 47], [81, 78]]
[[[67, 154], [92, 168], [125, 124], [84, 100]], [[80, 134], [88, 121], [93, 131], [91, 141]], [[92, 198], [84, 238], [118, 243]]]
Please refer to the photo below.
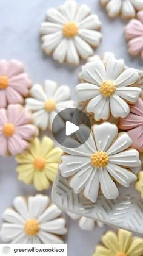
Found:
[[118, 128], [115, 124], [103, 123], [99, 126], [93, 126], [96, 146], [98, 151], [107, 151], [110, 144], [118, 134]]

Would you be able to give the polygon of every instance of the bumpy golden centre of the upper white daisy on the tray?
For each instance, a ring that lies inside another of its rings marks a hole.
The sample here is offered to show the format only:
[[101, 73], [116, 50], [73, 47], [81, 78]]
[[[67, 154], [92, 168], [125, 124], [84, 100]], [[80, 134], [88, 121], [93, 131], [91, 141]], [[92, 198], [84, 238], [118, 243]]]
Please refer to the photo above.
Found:
[[104, 97], [112, 96], [115, 91], [116, 85], [111, 81], [105, 81], [100, 87], [100, 92]]

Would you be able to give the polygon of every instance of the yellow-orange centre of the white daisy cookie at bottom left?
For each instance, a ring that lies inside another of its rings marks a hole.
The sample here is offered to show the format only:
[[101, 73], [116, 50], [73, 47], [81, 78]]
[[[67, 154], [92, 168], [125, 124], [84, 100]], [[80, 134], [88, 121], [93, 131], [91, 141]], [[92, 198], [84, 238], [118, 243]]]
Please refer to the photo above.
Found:
[[33, 236], [37, 235], [39, 232], [40, 226], [39, 222], [36, 219], [28, 219], [24, 225], [24, 231], [27, 235]]

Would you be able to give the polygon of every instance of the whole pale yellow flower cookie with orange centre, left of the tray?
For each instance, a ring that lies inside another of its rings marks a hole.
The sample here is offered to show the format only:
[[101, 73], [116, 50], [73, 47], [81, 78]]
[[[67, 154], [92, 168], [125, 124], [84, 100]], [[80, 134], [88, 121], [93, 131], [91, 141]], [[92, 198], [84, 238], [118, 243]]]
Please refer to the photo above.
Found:
[[36, 190], [48, 189], [55, 180], [61, 155], [61, 148], [54, 148], [50, 138], [43, 137], [42, 141], [35, 138], [27, 152], [16, 156], [18, 179], [33, 183]]

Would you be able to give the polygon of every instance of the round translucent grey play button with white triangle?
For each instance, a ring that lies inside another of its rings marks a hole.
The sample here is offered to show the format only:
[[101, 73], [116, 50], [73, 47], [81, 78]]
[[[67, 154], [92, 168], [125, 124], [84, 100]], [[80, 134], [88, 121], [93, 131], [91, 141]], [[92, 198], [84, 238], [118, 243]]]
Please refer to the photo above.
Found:
[[[59, 127], [59, 119], [64, 121], [64, 127], [56, 133], [56, 127]], [[77, 144], [69, 138], [81, 138], [80, 144], [88, 140], [91, 132], [91, 123], [88, 116], [78, 108], [67, 108], [59, 112], [53, 119], [52, 133], [55, 140], [61, 146], [76, 148]]]

